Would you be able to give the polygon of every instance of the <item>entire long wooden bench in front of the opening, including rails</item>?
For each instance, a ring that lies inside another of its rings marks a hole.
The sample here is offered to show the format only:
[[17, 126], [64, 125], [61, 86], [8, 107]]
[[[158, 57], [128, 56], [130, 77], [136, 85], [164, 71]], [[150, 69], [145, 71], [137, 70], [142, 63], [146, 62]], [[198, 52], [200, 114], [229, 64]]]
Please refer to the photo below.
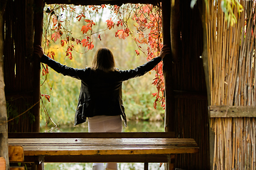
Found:
[[9, 145], [21, 145], [24, 162], [171, 162], [171, 155], [196, 153], [193, 139], [173, 132], [13, 133]]

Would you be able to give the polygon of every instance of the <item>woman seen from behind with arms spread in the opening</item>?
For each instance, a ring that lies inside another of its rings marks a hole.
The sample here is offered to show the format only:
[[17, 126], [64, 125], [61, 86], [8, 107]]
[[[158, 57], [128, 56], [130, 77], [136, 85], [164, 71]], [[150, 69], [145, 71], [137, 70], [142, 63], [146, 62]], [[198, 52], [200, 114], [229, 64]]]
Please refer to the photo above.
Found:
[[[84, 123], [88, 118], [89, 132], [122, 132], [122, 120], [124, 125], [127, 124], [122, 104], [122, 81], [146, 74], [170, 52], [170, 48], [164, 46], [159, 57], [135, 69], [119, 70], [115, 68], [112, 52], [100, 48], [92, 61], [92, 67], [74, 69], [51, 60], [43, 54], [41, 46], [35, 47], [41, 62], [64, 76], [81, 80], [75, 125]], [[114, 169], [117, 169], [117, 163], [106, 164], [106, 170]], [[104, 170], [104, 164], [94, 163], [92, 170]]]

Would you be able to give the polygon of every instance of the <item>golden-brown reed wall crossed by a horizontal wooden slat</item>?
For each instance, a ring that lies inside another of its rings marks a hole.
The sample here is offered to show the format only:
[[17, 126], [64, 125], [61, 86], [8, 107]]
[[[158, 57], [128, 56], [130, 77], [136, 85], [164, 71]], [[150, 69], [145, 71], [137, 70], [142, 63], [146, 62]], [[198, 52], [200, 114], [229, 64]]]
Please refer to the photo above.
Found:
[[206, 13], [213, 169], [256, 169], [255, 1], [240, 3], [244, 11], [233, 8], [232, 27], [220, 1], [208, 1]]

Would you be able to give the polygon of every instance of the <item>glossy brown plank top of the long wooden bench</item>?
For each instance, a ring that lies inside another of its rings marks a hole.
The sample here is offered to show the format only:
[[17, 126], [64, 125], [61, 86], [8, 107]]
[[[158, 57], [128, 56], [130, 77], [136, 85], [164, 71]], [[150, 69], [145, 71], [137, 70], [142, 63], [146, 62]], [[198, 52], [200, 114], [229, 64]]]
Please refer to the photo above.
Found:
[[39, 155], [141, 155], [196, 153], [193, 139], [178, 138], [44, 138], [9, 139], [21, 145], [25, 156]]

